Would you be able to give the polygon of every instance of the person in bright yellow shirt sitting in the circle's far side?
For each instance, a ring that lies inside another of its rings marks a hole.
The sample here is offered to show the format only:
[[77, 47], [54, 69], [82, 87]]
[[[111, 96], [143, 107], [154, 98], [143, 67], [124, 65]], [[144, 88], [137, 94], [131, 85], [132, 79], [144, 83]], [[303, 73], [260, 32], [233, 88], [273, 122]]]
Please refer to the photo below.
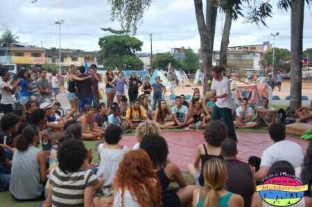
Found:
[[129, 124], [130, 129], [136, 129], [143, 120], [148, 120], [143, 107], [140, 106], [139, 100], [134, 100], [132, 107], [127, 110], [125, 120]]

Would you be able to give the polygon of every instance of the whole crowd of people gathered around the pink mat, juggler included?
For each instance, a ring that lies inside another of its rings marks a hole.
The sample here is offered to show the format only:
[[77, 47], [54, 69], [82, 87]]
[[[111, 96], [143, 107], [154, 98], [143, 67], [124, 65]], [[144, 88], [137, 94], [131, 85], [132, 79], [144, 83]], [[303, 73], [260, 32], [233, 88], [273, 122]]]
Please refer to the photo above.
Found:
[[[285, 139], [284, 126], [275, 122], [278, 110], [268, 105], [267, 98], [255, 109], [257, 120], [251, 120], [248, 98], [241, 100], [233, 118], [229, 80], [222, 75], [222, 67], [211, 69], [214, 80], [209, 96], [201, 98], [199, 89], [194, 89], [190, 102], [181, 94], [170, 108], [162, 100], [164, 85], [159, 77], [150, 84], [150, 77], [142, 82], [135, 73], [126, 78], [121, 71], [115, 77], [112, 69], [103, 78], [107, 102], [100, 102], [98, 82], [102, 77], [96, 71], [96, 65], [87, 71], [80, 66], [80, 73], [76, 66], [69, 67], [66, 96], [71, 110], [66, 117], [60, 113], [60, 102], [51, 101], [59, 88], [56, 73], [51, 73], [50, 84], [45, 69], [38, 73], [21, 70], [12, 81], [8, 71], [0, 71], [4, 112], [0, 123], [1, 191], [10, 188], [17, 201], [45, 199], [42, 206], [266, 206], [255, 192], [256, 181], [275, 173], [279, 165], [288, 165], [309, 186], [300, 204], [312, 205], [312, 144], [304, 156], [300, 145]], [[139, 96], [140, 87], [143, 94]], [[13, 110], [12, 94], [17, 90], [22, 108]], [[80, 116], [76, 119], [77, 110]], [[298, 109], [297, 116], [309, 120], [308, 110]], [[258, 125], [268, 127], [274, 144], [257, 163], [239, 161], [235, 128]], [[193, 185], [187, 184], [171, 161], [166, 137], [160, 135], [161, 129], [176, 128], [204, 129], [205, 143], [198, 146], [188, 165]], [[129, 149], [119, 142], [132, 130], [138, 143]], [[93, 150], [82, 140], [102, 139], [96, 145], [100, 163], [93, 165]], [[172, 181], [177, 187], [170, 185]], [[104, 197], [94, 197], [97, 192]]]

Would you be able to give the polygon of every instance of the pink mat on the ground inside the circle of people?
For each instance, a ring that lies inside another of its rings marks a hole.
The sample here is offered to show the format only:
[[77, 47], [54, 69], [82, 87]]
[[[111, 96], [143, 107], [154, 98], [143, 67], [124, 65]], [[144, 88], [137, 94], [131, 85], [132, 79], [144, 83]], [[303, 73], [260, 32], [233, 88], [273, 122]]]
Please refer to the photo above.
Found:
[[[198, 145], [205, 143], [202, 132], [163, 132], [161, 135], [166, 138], [169, 147], [169, 158], [177, 164], [182, 171], [187, 170], [187, 165], [195, 159]], [[263, 150], [268, 148], [273, 142], [268, 134], [236, 132], [239, 140], [237, 147], [238, 159], [248, 161], [249, 156], [255, 155], [261, 157]], [[298, 143], [306, 152], [309, 141], [300, 138], [286, 137], [290, 141]], [[123, 136], [120, 142], [131, 150], [137, 143], [135, 136]]]

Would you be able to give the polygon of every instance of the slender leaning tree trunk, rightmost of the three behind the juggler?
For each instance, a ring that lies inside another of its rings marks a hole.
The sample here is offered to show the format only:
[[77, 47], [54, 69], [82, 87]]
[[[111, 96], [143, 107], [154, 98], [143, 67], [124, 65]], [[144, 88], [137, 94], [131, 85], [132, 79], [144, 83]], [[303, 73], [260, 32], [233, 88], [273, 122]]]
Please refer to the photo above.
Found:
[[229, 32], [232, 26], [232, 14], [227, 13], [220, 46], [220, 66], [227, 66], [227, 46], [229, 46]]

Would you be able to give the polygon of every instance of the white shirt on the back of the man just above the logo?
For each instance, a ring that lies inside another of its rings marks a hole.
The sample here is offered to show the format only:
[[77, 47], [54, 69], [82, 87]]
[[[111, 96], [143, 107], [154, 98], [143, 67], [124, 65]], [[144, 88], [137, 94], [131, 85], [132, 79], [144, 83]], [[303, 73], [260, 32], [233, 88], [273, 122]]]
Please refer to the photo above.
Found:
[[302, 147], [292, 141], [284, 140], [274, 143], [263, 151], [260, 166], [272, 166], [276, 161], [288, 161], [297, 168], [304, 159]]

